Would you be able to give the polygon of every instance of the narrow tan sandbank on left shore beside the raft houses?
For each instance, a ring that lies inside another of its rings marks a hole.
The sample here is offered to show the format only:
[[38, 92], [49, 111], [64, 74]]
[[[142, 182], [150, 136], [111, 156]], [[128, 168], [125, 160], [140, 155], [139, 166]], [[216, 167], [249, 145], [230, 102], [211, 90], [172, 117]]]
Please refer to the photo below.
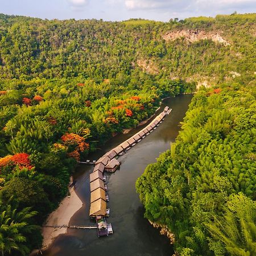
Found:
[[[82, 207], [82, 201], [77, 196], [74, 188], [69, 188], [70, 195], [65, 197], [59, 207], [52, 212], [46, 221], [46, 226], [68, 225], [71, 217]], [[60, 234], [67, 233], [67, 228], [42, 228], [43, 246], [46, 249]]]

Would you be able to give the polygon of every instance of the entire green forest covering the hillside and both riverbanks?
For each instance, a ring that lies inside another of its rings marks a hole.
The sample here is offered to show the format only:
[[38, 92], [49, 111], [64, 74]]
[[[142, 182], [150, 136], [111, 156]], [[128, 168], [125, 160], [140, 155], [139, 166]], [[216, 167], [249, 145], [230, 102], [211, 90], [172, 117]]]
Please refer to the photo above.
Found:
[[[222, 218], [244, 213], [234, 205], [244, 201], [255, 212], [255, 20], [0, 14], [1, 253], [40, 248], [40, 226], [67, 195], [77, 160], [150, 117], [162, 98], [205, 85], [215, 89], [196, 94], [172, 151], [147, 168], [137, 189], [146, 217], [175, 233], [180, 255], [202, 247], [233, 255], [216, 237]], [[229, 44], [164, 39], [182, 30], [218, 33]], [[253, 228], [255, 216], [241, 218]], [[255, 249], [255, 229], [251, 236]]]

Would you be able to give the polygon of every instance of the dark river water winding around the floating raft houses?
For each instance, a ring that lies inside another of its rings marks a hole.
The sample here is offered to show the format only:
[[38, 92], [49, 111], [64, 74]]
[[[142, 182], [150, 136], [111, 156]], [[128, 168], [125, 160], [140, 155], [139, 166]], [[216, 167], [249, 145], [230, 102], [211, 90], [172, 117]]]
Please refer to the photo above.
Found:
[[[97, 237], [95, 229], [73, 230], [56, 238], [52, 246], [43, 252], [47, 256], [170, 256], [173, 248], [168, 238], [161, 236], [144, 218], [144, 208], [135, 191], [135, 181], [144, 172], [148, 164], [156, 162], [163, 151], [170, 148], [180, 130], [179, 122], [183, 120], [192, 95], [181, 95], [163, 101], [157, 114], [165, 106], [172, 108], [170, 115], [160, 126], [141, 142], [118, 158], [121, 167], [114, 174], [106, 174], [109, 193], [110, 217], [114, 234], [109, 237]], [[146, 125], [144, 125], [146, 126]], [[119, 134], [109, 141], [104, 149], [98, 150], [88, 158], [97, 160], [100, 156], [119, 143], [137, 133], [144, 126]], [[71, 218], [71, 225], [95, 225], [89, 218], [90, 185], [89, 175], [93, 166], [80, 165], [74, 179], [77, 180], [76, 192], [84, 206]]]

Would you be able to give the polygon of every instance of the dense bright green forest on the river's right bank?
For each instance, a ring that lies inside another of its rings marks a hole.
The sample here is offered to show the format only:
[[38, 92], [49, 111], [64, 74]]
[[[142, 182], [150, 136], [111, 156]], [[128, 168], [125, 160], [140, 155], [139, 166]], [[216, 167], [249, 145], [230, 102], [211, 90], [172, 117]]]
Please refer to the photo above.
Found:
[[201, 88], [176, 142], [137, 180], [178, 255], [256, 255], [255, 93]]

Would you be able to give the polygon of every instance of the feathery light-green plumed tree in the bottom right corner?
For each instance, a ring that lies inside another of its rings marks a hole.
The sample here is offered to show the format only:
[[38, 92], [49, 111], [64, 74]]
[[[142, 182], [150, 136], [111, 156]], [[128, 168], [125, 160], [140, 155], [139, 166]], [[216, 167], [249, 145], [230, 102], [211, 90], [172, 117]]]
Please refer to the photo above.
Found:
[[223, 217], [205, 226], [230, 255], [256, 255], [256, 202], [242, 193], [232, 196]]

